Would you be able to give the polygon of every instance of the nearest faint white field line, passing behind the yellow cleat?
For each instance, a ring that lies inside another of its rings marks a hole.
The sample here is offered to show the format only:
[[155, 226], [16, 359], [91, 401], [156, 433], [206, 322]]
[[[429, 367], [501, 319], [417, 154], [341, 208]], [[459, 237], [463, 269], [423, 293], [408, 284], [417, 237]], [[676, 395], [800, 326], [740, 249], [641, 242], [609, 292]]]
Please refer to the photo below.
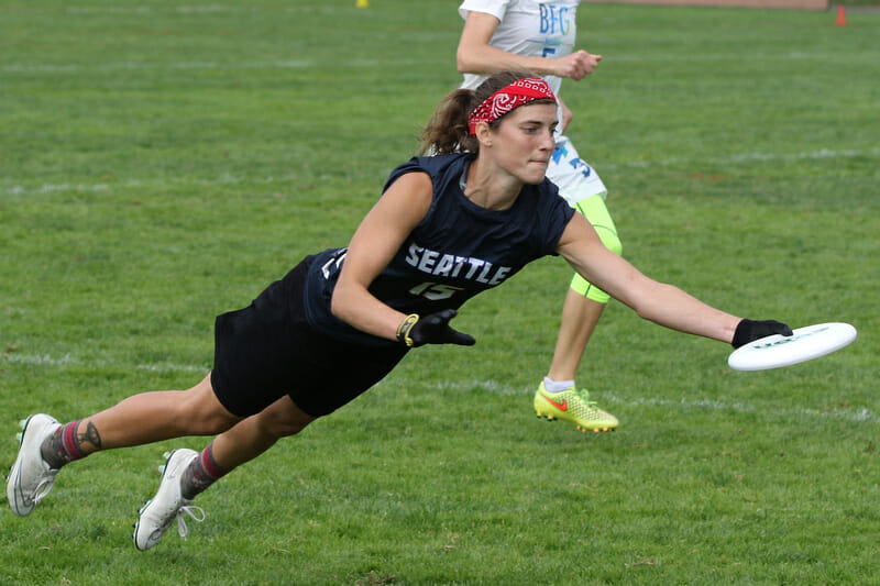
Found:
[[[102, 368], [112, 367], [119, 368], [124, 364], [118, 361], [84, 361], [72, 354], [64, 354], [62, 356], [51, 356], [48, 354], [20, 354], [18, 352], [10, 352], [0, 354], [0, 364], [28, 364], [36, 366], [51, 366], [63, 367], [67, 365], [85, 366], [88, 368]], [[139, 371], [148, 371], [154, 373], [199, 373], [205, 375], [210, 371], [207, 365], [197, 364], [175, 364], [172, 362], [139, 364], [134, 368]], [[380, 383], [380, 387], [383, 384]], [[393, 383], [392, 383], [393, 385]], [[441, 380], [438, 383], [426, 385], [428, 388], [443, 390], [471, 390], [479, 389], [490, 395], [503, 396], [522, 396], [529, 397], [535, 392], [532, 387], [529, 388], [512, 388], [509, 386], [497, 383], [496, 380]], [[853, 423], [880, 423], [880, 416], [867, 408], [862, 409], [848, 409], [839, 411], [822, 411], [820, 409], [783, 409], [783, 410], [767, 410], [755, 407], [736, 400], [718, 400], [718, 399], [689, 399], [681, 397], [679, 399], [666, 397], [623, 397], [614, 391], [603, 390], [602, 401], [604, 405], [616, 405], [628, 408], [638, 409], [642, 406], [663, 407], [679, 411], [735, 411], [739, 413], [756, 413], [763, 412], [779, 419], [815, 419], [815, 420], [840, 420], [849, 421]]]

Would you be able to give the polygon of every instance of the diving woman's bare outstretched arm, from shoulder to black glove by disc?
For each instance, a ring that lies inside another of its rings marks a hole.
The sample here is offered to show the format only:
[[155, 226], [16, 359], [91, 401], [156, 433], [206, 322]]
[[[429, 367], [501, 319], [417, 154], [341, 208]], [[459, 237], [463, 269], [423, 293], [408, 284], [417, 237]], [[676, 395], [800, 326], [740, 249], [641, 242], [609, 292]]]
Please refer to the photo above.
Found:
[[743, 321], [678, 287], [648, 278], [606, 248], [580, 213], [562, 233], [557, 252], [586, 280], [660, 325], [729, 343]]

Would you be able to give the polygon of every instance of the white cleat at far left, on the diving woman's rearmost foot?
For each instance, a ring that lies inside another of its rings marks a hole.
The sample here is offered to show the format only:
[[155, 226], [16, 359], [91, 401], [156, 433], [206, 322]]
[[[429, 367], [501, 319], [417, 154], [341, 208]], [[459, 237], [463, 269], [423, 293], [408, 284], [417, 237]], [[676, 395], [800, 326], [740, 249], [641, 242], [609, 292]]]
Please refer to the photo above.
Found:
[[55, 484], [58, 471], [45, 463], [40, 450], [43, 441], [61, 427], [61, 423], [43, 413], [31, 416], [21, 423], [19, 456], [7, 479], [9, 506], [19, 517], [31, 515]]

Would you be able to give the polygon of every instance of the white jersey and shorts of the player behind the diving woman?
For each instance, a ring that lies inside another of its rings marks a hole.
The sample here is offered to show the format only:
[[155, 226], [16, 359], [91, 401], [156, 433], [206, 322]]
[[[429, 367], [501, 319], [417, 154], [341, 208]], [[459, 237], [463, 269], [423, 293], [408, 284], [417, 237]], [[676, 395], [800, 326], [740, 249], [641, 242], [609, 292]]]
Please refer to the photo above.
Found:
[[[575, 16], [581, 0], [464, 0], [459, 14], [483, 12], [498, 19], [498, 27], [490, 45], [507, 53], [528, 57], [558, 58], [571, 55], [578, 35]], [[475, 89], [488, 76], [464, 74], [461, 87]], [[542, 76], [559, 96], [562, 78]], [[560, 113], [561, 117], [561, 113]], [[561, 120], [561, 118], [560, 118]], [[572, 206], [588, 196], [606, 194], [598, 174], [578, 155], [574, 145], [557, 133], [557, 150], [547, 177], [559, 187], [560, 195]]]

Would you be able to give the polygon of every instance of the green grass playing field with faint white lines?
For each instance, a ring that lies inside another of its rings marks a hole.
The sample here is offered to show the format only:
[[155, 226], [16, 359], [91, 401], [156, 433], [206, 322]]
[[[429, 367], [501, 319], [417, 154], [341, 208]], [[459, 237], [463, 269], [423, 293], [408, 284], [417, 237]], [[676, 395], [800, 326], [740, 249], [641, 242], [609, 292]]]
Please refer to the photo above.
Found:
[[[87, 416], [211, 365], [217, 313], [348, 242], [459, 81], [458, 1], [0, 3], [0, 466], [31, 412]], [[184, 439], [0, 509], [0, 584], [877, 584], [880, 13], [585, 4], [563, 86], [625, 255], [848, 349], [736, 373], [729, 346], [603, 318], [579, 379], [622, 420], [535, 418], [559, 258], [464, 308], [355, 402], [131, 524]]]

